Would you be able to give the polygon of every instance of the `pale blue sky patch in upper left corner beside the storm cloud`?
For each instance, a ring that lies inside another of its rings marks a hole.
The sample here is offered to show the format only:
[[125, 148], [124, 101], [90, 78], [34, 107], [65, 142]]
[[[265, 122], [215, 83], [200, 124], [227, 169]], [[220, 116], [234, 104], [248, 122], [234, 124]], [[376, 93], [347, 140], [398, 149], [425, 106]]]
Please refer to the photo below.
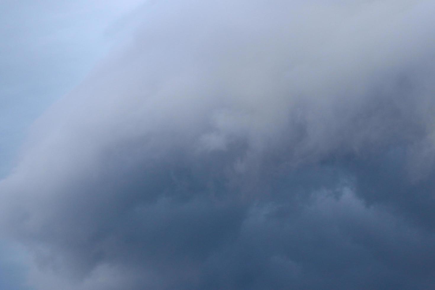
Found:
[[124, 17], [141, 2], [1, 1], [0, 177], [33, 120], [128, 35], [120, 33], [131, 26]]

